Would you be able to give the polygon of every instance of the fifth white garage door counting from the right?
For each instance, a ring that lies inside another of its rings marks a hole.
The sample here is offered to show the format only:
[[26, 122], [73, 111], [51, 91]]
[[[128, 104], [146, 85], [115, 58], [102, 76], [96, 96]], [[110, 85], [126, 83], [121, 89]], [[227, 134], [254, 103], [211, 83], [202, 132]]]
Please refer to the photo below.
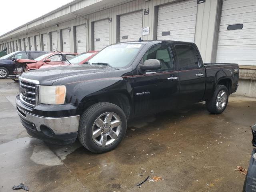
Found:
[[85, 25], [76, 26], [76, 52], [86, 52], [86, 28]]

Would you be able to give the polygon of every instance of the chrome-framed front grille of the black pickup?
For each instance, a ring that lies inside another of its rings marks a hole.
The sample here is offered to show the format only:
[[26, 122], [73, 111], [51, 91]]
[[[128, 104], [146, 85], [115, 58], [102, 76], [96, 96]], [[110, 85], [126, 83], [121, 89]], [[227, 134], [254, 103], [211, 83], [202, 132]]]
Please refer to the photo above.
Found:
[[19, 84], [20, 84], [20, 101], [24, 105], [34, 108], [37, 103], [36, 85], [39, 85], [39, 81], [20, 77]]

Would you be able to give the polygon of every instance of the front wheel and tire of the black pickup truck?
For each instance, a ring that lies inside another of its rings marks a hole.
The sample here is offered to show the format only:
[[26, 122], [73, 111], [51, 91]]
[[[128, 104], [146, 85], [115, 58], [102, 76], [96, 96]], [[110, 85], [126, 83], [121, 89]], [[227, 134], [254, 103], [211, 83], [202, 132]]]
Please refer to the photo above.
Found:
[[100, 102], [90, 106], [82, 114], [78, 139], [91, 152], [104, 153], [116, 148], [124, 138], [126, 128], [123, 110], [112, 103]]

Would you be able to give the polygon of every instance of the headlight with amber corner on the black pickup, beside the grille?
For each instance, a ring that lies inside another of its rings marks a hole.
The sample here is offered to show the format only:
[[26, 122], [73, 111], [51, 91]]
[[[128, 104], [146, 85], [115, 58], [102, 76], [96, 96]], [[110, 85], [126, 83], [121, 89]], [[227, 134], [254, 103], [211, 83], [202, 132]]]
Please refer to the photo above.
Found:
[[66, 98], [66, 86], [40, 85], [40, 103], [58, 105], [64, 104]]

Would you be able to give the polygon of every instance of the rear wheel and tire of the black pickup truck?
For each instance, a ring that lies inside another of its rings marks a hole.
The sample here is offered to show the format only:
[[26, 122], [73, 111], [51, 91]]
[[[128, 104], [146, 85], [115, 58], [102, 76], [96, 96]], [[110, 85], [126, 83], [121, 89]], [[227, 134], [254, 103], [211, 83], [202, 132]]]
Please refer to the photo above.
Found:
[[217, 85], [212, 96], [212, 99], [206, 101], [207, 110], [212, 114], [221, 114], [226, 109], [226, 106], [228, 104], [228, 95], [228, 88], [226, 88], [226, 86]]

